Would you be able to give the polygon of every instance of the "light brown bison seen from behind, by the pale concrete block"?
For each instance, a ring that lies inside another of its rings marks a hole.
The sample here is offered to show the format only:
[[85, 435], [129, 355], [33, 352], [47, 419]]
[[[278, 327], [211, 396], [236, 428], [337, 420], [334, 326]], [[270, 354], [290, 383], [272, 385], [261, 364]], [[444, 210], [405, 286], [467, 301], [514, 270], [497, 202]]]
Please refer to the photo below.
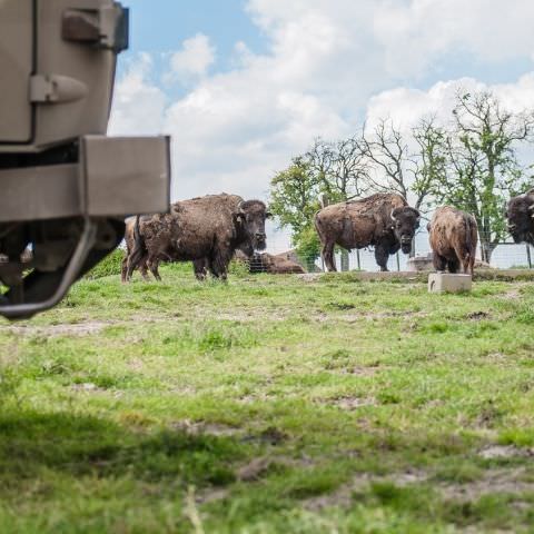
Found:
[[427, 226], [433, 263], [436, 270], [464, 273], [473, 276], [476, 244], [478, 241], [475, 218], [456, 208], [437, 208]]

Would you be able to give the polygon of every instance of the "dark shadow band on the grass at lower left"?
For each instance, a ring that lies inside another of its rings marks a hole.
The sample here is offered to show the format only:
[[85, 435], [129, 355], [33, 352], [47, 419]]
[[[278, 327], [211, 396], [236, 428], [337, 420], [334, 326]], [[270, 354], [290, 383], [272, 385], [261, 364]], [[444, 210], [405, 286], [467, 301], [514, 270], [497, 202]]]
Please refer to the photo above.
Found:
[[108, 419], [67, 413], [0, 413], [4, 491], [44, 472], [47, 477], [57, 472], [72, 477], [129, 475], [145, 482], [169, 478], [184, 487], [225, 485], [235, 479], [231, 466], [241, 456], [239, 444], [226, 436], [170, 429], [144, 434]]

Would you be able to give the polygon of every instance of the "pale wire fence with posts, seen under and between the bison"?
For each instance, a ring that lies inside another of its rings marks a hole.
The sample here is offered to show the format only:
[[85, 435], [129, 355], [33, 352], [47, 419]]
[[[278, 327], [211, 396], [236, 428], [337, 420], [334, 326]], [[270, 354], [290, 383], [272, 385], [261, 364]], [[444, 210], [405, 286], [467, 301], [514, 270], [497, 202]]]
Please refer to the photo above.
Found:
[[[278, 255], [290, 250], [290, 235], [288, 233], [277, 231], [268, 238], [269, 254]], [[431, 247], [428, 244], [428, 235], [426, 231], [421, 231], [415, 238], [415, 256], [429, 256]], [[477, 248], [477, 259], [481, 259], [481, 249]], [[299, 258], [305, 260], [306, 258]], [[318, 270], [323, 270], [323, 261], [320, 258], [308, 258], [310, 264], [316, 266]], [[315, 261], [314, 261], [315, 259]], [[389, 270], [407, 270], [408, 256], [398, 253], [389, 257]], [[342, 253], [337, 251], [335, 255], [336, 267], [342, 270]], [[534, 251], [528, 245], [516, 245], [514, 243], [501, 243], [493, 250], [490, 266], [497, 269], [511, 268], [534, 268]], [[379, 267], [376, 265], [373, 248], [365, 248], [360, 250], [352, 250], [348, 254], [348, 270], [367, 270], [377, 271]]]

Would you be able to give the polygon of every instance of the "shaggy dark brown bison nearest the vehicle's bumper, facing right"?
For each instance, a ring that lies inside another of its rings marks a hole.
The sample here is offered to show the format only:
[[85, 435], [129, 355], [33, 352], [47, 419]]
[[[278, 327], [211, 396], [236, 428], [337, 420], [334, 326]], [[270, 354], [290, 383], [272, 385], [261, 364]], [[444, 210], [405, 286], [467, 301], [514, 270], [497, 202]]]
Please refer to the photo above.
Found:
[[138, 217], [135, 246], [128, 256], [126, 279], [146, 264], [157, 279], [160, 261], [192, 261], [202, 279], [209, 270], [226, 279], [237, 248], [248, 256], [265, 249], [265, 220], [269, 216], [260, 200], [237, 195], [208, 195], [171, 206], [170, 214]]

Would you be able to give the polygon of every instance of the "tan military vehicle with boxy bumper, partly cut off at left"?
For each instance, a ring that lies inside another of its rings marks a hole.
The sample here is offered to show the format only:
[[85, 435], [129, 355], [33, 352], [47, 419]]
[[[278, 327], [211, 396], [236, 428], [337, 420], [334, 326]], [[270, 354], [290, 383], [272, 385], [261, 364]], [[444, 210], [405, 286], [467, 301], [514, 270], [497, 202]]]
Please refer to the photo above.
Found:
[[0, 0], [0, 315], [55, 306], [123, 236], [169, 206], [169, 139], [106, 137], [128, 9]]

